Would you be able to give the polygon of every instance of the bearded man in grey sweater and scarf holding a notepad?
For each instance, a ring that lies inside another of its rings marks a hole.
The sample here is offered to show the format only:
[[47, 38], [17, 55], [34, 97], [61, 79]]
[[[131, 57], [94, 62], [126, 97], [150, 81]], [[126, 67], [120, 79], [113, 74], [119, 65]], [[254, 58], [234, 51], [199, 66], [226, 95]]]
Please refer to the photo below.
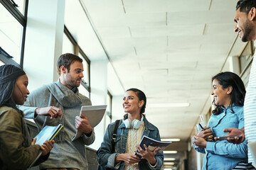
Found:
[[[70, 53], [60, 55], [57, 68], [59, 81], [31, 92], [20, 108], [26, 118], [35, 120], [38, 130], [46, 125], [63, 125], [63, 130], [55, 137], [50, 157], [40, 169], [87, 170], [85, 145], [94, 142], [95, 132], [87, 118], [80, 114], [81, 106], [92, 105], [90, 99], [78, 91], [83, 77], [82, 59]], [[83, 134], [71, 141], [76, 130]]]

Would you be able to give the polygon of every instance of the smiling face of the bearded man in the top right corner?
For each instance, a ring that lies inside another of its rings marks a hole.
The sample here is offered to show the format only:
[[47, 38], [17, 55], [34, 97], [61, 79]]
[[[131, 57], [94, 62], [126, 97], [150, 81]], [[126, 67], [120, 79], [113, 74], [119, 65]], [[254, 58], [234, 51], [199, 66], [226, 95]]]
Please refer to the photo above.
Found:
[[252, 40], [253, 26], [248, 16], [250, 15], [245, 12], [240, 12], [240, 8], [235, 12], [235, 32], [238, 32], [242, 42]]

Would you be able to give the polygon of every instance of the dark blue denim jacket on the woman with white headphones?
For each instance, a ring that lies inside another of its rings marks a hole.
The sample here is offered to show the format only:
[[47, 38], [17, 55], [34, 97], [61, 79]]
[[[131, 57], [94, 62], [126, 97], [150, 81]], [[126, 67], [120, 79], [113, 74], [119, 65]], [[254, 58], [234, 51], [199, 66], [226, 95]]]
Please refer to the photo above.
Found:
[[[153, 138], [154, 140], [160, 141], [159, 130], [149, 123], [146, 118], [144, 117], [144, 132], [143, 135]], [[108, 125], [107, 130], [105, 132], [104, 140], [98, 150], [97, 154], [97, 162], [99, 162], [100, 166], [108, 167], [110, 169], [124, 169], [124, 162], [119, 162], [114, 164], [114, 159], [117, 157], [118, 154], [126, 153], [126, 146], [127, 146], [127, 137], [128, 137], [128, 128], [125, 128], [124, 123], [119, 125], [117, 129], [117, 138], [114, 140], [114, 153], [112, 153], [112, 132], [114, 128], [114, 123]], [[143, 136], [142, 135], [142, 136]], [[164, 161], [164, 154], [156, 153], [156, 167], [152, 168], [146, 159], [142, 159], [139, 162], [139, 169], [146, 170], [146, 169], [161, 169]]]

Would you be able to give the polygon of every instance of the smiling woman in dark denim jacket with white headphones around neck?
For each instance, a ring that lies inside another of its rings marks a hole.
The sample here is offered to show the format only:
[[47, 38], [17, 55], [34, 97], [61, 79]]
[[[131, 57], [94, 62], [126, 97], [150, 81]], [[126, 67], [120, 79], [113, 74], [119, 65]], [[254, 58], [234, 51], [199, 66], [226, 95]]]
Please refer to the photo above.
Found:
[[[150, 151], [139, 146], [142, 136], [148, 136], [160, 141], [159, 130], [149, 123], [144, 113], [146, 108], [146, 96], [139, 89], [128, 89], [123, 98], [124, 120], [117, 129], [117, 137], [114, 140], [114, 152], [112, 148], [112, 132], [114, 123], [108, 125], [104, 140], [97, 152], [97, 161], [100, 166], [110, 169], [161, 169], [164, 154], [158, 153], [158, 148]], [[139, 158], [137, 154], [142, 157]]]

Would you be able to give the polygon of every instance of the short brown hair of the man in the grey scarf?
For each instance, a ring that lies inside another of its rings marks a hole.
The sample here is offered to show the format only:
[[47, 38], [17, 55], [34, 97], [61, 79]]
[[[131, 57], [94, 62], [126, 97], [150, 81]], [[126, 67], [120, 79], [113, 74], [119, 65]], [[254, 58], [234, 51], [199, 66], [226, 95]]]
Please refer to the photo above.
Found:
[[68, 69], [68, 72], [70, 71], [70, 65], [75, 62], [82, 62], [82, 59], [78, 57], [77, 55], [73, 55], [71, 53], [65, 53], [63, 55], [60, 55], [58, 58], [57, 62], [57, 69], [58, 69], [58, 74], [60, 75], [60, 67], [64, 66], [65, 68]]

